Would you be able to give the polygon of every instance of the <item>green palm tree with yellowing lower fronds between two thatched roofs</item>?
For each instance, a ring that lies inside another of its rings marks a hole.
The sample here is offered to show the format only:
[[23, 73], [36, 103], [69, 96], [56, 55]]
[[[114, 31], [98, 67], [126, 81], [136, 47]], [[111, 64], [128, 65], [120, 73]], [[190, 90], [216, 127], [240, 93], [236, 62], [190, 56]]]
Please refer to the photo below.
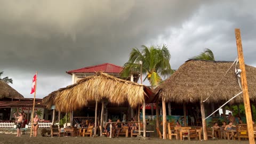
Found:
[[[142, 45], [141, 52], [137, 48], [133, 48], [130, 53], [128, 62], [124, 64], [121, 77], [129, 77], [130, 74], [140, 73], [142, 66], [142, 74], [147, 75], [144, 81], [148, 79], [151, 87], [157, 86], [162, 81], [161, 76], [166, 78], [173, 73], [170, 65], [171, 54], [166, 45], [162, 47]], [[140, 65], [140, 61], [142, 64]], [[151, 114], [153, 115], [153, 104], [151, 104]]]

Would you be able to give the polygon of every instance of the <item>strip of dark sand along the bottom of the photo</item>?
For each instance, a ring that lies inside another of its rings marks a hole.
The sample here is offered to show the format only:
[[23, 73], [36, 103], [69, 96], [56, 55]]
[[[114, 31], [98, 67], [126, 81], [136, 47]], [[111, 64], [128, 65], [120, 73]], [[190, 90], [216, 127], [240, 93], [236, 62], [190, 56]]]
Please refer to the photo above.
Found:
[[156, 137], [150, 138], [149, 140], [142, 140], [137, 138], [125, 138], [125, 137], [118, 137], [118, 138], [107, 138], [107, 137], [42, 137], [41, 135], [38, 135], [37, 137], [30, 138], [29, 134], [23, 134], [21, 137], [15, 137], [16, 134], [0, 134], [0, 143], [37, 143], [37, 144], [43, 144], [43, 143], [102, 143], [102, 144], [138, 144], [138, 143], [145, 143], [145, 144], [155, 144], [155, 143], [163, 143], [163, 144], [170, 144], [170, 143], [214, 143], [214, 144], [220, 144], [220, 143], [249, 143], [248, 140], [207, 140], [207, 141], [199, 141], [199, 140], [162, 140], [158, 139]]

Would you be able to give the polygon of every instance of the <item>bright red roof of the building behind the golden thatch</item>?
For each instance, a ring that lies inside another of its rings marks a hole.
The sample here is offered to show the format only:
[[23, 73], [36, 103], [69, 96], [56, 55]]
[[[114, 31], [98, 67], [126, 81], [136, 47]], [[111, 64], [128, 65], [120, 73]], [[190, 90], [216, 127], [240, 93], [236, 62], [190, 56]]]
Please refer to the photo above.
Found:
[[84, 67], [80, 69], [66, 71], [66, 73], [95, 73], [98, 71], [103, 71], [104, 73], [120, 73], [123, 70], [123, 67], [117, 66], [111, 63], [103, 63], [100, 65]]

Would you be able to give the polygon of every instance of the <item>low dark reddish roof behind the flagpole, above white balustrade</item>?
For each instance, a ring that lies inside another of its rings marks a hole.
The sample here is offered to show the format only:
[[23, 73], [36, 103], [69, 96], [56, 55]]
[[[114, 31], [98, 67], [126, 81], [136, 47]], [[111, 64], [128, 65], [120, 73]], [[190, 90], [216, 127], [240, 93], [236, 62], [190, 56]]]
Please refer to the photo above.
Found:
[[[0, 101], [0, 107], [33, 107], [34, 101]], [[35, 101], [35, 107], [45, 107], [42, 101]]]

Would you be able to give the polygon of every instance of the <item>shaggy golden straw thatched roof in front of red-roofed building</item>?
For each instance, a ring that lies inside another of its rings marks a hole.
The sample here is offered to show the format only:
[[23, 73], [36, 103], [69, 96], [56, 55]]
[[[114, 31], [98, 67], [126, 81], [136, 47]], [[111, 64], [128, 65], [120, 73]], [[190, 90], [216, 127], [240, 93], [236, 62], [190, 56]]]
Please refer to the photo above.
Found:
[[88, 102], [108, 99], [111, 103], [121, 105], [128, 102], [137, 107], [145, 98], [153, 96], [144, 85], [125, 81], [105, 73], [88, 76], [73, 85], [54, 91], [43, 98], [47, 108], [55, 105], [58, 111], [72, 111], [83, 108]]

